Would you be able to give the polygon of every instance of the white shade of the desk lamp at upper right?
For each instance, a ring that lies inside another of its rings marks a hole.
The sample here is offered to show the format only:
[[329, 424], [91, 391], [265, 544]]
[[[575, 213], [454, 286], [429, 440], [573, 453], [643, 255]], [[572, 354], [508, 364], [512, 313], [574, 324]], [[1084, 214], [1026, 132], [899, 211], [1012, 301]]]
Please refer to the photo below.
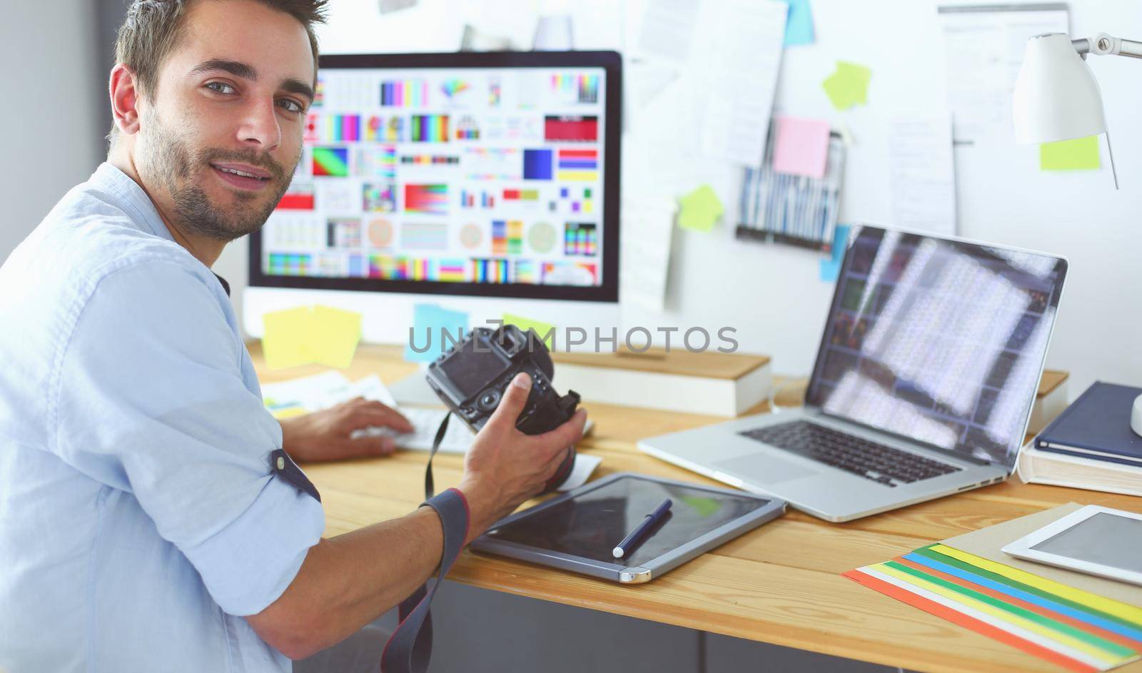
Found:
[[1099, 82], [1065, 34], [1027, 41], [1012, 117], [1016, 143], [1053, 143], [1105, 133]]

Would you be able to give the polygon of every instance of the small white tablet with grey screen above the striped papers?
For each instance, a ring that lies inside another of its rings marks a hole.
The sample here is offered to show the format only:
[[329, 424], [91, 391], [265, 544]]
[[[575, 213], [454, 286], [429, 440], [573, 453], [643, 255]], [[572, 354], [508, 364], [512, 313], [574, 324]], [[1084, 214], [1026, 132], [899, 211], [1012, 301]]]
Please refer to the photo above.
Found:
[[1087, 505], [1003, 551], [1016, 559], [1142, 584], [1142, 514]]

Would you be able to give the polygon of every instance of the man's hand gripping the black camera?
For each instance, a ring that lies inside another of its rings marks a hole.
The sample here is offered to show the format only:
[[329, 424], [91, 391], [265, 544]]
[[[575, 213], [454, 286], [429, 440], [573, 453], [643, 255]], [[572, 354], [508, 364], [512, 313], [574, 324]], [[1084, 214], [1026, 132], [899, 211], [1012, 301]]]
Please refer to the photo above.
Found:
[[542, 492], [544, 484], [563, 462], [568, 447], [582, 438], [587, 411], [581, 408], [550, 432], [537, 435], [520, 432], [515, 422], [530, 391], [531, 378], [518, 374], [465, 455], [460, 490], [471, 511], [466, 542], [483, 534], [524, 500]]

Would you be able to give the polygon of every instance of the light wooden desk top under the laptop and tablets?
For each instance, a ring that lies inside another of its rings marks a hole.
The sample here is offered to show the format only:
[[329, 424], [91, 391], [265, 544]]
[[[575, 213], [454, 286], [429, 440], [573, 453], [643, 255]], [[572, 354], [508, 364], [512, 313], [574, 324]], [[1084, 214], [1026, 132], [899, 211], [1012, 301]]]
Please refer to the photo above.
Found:
[[[258, 376], [270, 383], [325, 370], [308, 366], [268, 371], [250, 345]], [[416, 371], [393, 347], [362, 346], [349, 378], [378, 374], [392, 382]], [[595, 430], [579, 450], [603, 458], [594, 476], [630, 470], [715, 484], [635, 449], [643, 436], [718, 423], [722, 418], [603, 404], [585, 406]], [[425, 454], [307, 465], [321, 490], [325, 535], [400, 516], [424, 496]], [[437, 489], [459, 483], [461, 457], [440, 455]], [[718, 484], [721, 486], [721, 484]], [[828, 655], [920, 671], [1062, 671], [841, 576], [924, 544], [1067, 502], [1139, 510], [1128, 496], [1018, 480], [849, 523], [827, 523], [795, 510], [649, 584], [620, 586], [465, 551], [449, 579], [570, 606], [722, 633]], [[1119, 668], [1142, 672], [1142, 662]]]

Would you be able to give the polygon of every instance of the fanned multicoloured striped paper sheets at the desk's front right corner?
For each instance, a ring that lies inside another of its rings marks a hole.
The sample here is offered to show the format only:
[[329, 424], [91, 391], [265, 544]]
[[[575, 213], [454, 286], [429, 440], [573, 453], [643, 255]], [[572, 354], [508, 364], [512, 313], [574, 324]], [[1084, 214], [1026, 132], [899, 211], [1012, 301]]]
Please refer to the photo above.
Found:
[[1142, 608], [944, 544], [844, 576], [1069, 671], [1107, 671], [1142, 651]]

